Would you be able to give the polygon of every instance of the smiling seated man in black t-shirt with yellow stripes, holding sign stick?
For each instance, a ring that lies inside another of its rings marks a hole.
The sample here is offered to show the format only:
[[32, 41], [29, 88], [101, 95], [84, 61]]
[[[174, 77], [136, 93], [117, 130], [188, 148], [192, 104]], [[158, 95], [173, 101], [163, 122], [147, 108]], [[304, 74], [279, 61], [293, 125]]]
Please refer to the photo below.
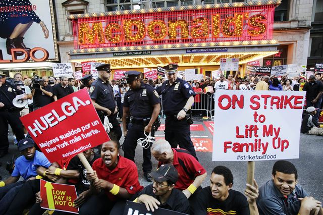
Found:
[[203, 214], [259, 214], [256, 205], [258, 185], [254, 180], [254, 186], [247, 184], [245, 195], [231, 189], [233, 175], [223, 166], [215, 167], [210, 177], [210, 186], [204, 187], [196, 197], [191, 210], [195, 215]]

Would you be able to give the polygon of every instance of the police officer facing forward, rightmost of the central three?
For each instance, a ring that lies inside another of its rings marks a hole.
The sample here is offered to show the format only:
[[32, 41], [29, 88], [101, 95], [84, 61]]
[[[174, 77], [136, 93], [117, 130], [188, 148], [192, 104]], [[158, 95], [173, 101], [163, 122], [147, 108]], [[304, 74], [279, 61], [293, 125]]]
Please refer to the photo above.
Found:
[[[196, 159], [196, 153], [191, 141], [190, 124], [186, 117], [192, 104], [194, 103], [195, 92], [186, 81], [177, 77], [177, 65], [169, 64], [164, 67], [168, 78], [156, 90], [162, 96], [165, 122], [165, 139], [172, 148], [188, 150]], [[188, 115], [187, 115], [188, 116]]]

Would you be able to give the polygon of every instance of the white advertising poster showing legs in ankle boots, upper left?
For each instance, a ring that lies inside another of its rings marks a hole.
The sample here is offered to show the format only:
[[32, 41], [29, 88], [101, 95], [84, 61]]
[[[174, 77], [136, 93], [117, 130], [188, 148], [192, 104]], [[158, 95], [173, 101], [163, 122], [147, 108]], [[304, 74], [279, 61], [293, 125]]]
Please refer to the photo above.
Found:
[[[7, 50], [6, 41], [15, 35], [14, 29], [19, 23], [28, 25], [24, 25], [23, 32], [13, 40], [8, 40], [9, 42], [14, 42], [16, 48], [22, 48], [22, 41], [29, 48], [26, 51], [35, 51], [34, 56], [37, 59], [42, 59], [45, 51], [48, 53], [48, 60], [58, 60], [51, 10], [51, 0], [11, 1], [11, 4], [7, 4], [7, 1], [0, 1], [0, 17], [3, 19], [0, 22], [0, 49], [4, 60], [13, 59], [11, 49]], [[17, 52], [16, 56], [18, 60], [32, 60], [27, 58], [23, 52]]]

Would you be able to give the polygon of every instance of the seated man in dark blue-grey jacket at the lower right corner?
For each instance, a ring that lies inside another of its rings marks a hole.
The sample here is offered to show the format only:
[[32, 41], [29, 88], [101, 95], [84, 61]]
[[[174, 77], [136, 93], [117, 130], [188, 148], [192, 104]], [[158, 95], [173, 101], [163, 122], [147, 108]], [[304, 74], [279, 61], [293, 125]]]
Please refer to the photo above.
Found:
[[292, 163], [278, 160], [272, 174], [272, 180], [259, 188], [259, 214], [306, 215], [315, 211], [323, 214], [321, 203], [308, 197], [301, 185], [297, 184], [297, 170]]

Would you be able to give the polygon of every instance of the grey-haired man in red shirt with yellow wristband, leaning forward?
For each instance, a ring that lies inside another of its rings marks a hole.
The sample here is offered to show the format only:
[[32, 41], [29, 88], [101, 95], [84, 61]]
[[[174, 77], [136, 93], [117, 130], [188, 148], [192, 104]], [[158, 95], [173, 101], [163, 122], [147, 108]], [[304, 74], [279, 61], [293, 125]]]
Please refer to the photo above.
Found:
[[206, 171], [193, 155], [185, 149], [171, 148], [169, 142], [159, 139], [151, 146], [151, 154], [162, 164], [172, 164], [180, 177], [175, 188], [183, 191], [187, 198], [195, 192], [206, 178]]

